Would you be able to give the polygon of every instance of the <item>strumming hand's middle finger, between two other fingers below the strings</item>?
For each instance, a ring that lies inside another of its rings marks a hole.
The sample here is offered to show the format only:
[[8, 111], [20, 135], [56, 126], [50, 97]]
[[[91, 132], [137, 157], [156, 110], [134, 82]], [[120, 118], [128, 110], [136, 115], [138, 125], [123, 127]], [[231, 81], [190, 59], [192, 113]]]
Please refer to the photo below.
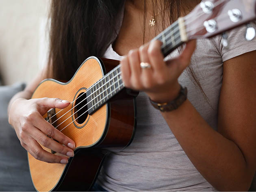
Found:
[[[30, 129], [30, 130], [32, 130], [32, 129]], [[67, 155], [69, 157], [74, 156], [74, 151], [72, 149], [70, 149], [69, 147], [61, 145], [60, 143], [56, 142], [52, 138], [49, 138], [48, 136], [46, 136], [46, 134], [43, 134], [43, 132], [41, 132], [36, 127], [33, 129], [33, 132], [30, 132], [29, 134], [38, 143], [40, 143], [44, 147], [47, 147], [48, 149], [52, 149], [53, 151], [56, 151], [56, 152], [61, 153], [63, 155]]]

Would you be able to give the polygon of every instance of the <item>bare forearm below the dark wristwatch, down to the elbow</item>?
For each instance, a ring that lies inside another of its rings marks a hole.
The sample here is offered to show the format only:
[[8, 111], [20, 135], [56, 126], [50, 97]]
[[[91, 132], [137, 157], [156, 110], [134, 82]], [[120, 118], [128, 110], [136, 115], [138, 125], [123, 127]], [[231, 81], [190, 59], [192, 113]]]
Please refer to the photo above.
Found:
[[239, 147], [210, 127], [187, 100], [163, 117], [203, 177], [218, 190], [248, 190], [249, 170]]

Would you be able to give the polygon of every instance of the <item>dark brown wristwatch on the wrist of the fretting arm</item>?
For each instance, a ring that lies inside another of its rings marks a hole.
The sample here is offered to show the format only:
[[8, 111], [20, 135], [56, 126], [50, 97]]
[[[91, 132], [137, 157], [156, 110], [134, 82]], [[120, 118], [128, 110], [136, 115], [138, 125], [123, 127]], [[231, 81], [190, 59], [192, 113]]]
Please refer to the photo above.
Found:
[[169, 101], [166, 103], [156, 103], [154, 101], [152, 101], [150, 98], [150, 103], [152, 104], [152, 106], [158, 110], [160, 110], [161, 112], [165, 112], [165, 111], [172, 111], [177, 109], [179, 106], [181, 106], [184, 101], [186, 101], [187, 99], [187, 87], [182, 87], [180, 85], [180, 93], [178, 95], [178, 97], [176, 97], [176, 99], [174, 99], [173, 101]]

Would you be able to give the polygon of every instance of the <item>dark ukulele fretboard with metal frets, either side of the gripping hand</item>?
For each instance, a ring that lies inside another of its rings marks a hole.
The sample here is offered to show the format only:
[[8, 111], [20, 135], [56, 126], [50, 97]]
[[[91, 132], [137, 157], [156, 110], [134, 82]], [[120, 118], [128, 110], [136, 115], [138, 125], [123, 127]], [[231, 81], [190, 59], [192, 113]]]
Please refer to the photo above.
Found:
[[[152, 39], [152, 41], [153, 40], [159, 40], [163, 43], [161, 51], [163, 56], [166, 57], [178, 46], [188, 40], [183, 18], [179, 18], [171, 26]], [[98, 82], [93, 84], [86, 92], [88, 98], [88, 113], [93, 114], [93, 112], [98, 110], [123, 88], [124, 82], [121, 78], [120, 65], [118, 65], [108, 72], [103, 78], [98, 80]]]

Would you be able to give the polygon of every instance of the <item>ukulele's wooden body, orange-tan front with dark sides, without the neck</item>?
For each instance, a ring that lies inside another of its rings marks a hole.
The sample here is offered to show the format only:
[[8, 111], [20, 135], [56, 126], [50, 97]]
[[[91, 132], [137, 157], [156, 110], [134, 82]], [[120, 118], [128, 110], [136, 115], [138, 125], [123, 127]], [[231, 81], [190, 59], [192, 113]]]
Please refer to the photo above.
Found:
[[[67, 83], [44, 80], [36, 88], [32, 98], [57, 97], [71, 102], [76, 100], [87, 88], [119, 64], [116, 60], [102, 60], [96, 57], [87, 58]], [[67, 126], [62, 133], [76, 143], [75, 156], [69, 158], [68, 164], [49, 164], [36, 160], [28, 153], [30, 174], [37, 191], [89, 190], [98, 176], [108, 149], [123, 149], [132, 141], [136, 127], [136, 101], [135, 95], [128, 94], [126, 89], [80, 121], [75, 120], [77, 109], [72, 109], [75, 105], [76, 101], [61, 112], [56, 109], [56, 113], [59, 113], [56, 114], [58, 120], [54, 123], [59, 125], [64, 121], [57, 129]], [[46, 116], [47, 114], [44, 115], [45, 118]], [[46, 147], [43, 149], [51, 152]]]

